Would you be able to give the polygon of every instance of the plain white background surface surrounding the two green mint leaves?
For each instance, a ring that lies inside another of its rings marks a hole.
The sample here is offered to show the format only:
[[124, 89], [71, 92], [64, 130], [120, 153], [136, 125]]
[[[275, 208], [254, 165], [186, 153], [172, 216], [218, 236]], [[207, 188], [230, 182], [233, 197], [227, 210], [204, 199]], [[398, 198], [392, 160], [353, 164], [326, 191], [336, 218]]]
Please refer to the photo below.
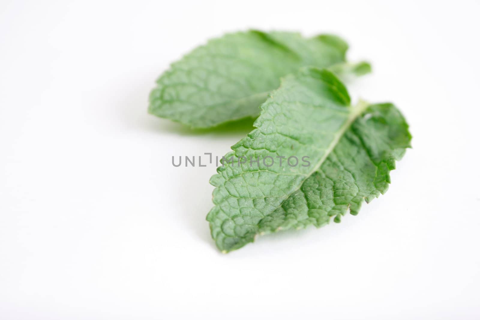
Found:
[[[2, 1], [0, 319], [479, 319], [478, 1]], [[250, 27], [343, 36], [413, 149], [356, 217], [221, 254], [215, 166], [250, 129], [146, 113], [156, 77]]]

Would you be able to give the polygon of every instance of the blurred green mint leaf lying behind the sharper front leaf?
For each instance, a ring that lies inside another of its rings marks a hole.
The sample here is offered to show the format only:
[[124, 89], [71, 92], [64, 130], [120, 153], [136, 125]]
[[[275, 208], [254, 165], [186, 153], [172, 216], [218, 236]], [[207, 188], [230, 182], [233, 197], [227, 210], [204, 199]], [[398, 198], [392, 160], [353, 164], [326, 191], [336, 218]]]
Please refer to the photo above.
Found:
[[148, 111], [192, 128], [256, 118], [280, 77], [303, 66], [336, 65], [345, 71], [341, 63], [347, 49], [344, 40], [332, 35], [304, 38], [255, 30], [227, 34], [173, 63], [158, 78]]

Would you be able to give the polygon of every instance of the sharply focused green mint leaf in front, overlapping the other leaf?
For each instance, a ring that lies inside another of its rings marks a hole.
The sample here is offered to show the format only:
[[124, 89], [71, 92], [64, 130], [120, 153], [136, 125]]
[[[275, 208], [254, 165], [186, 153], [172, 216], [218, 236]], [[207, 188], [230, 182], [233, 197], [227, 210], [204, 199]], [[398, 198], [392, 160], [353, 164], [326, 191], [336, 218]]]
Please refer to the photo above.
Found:
[[[326, 70], [288, 75], [261, 110], [257, 129], [232, 147], [210, 180], [215, 207], [207, 220], [223, 252], [257, 235], [320, 227], [332, 217], [340, 222], [348, 209], [357, 214], [364, 200], [388, 189], [390, 170], [410, 146], [395, 106], [350, 106], [347, 89]], [[287, 163], [293, 156], [297, 166]]]

